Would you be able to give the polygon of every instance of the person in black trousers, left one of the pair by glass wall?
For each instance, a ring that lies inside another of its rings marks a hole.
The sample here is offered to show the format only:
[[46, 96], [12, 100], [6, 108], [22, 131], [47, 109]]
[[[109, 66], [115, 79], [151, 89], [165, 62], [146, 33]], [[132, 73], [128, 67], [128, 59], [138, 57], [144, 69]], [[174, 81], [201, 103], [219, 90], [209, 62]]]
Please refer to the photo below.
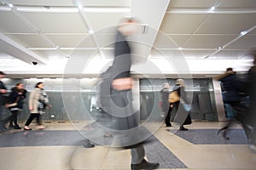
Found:
[[170, 85], [168, 82], [165, 82], [163, 84], [163, 88], [160, 90], [160, 94], [161, 94], [161, 107], [162, 107], [162, 111], [165, 113], [165, 122], [166, 122], [166, 127], [172, 127], [172, 123], [171, 123], [171, 111], [172, 108], [170, 108], [170, 103], [169, 103], [169, 88]]

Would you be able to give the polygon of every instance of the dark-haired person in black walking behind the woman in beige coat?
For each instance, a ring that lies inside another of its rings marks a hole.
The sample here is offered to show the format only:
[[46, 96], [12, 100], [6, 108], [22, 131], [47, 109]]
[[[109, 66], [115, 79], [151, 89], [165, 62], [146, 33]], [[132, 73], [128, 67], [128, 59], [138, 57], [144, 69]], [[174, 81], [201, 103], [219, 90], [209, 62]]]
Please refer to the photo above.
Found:
[[[23, 109], [23, 99], [26, 98], [26, 89], [24, 89], [24, 84], [17, 83], [14, 88], [11, 89], [9, 94], [9, 99], [11, 101], [8, 105], [9, 111], [12, 113], [12, 116], [9, 120], [9, 127], [14, 127], [15, 129], [21, 129], [17, 123], [18, 114]], [[13, 124], [15, 123], [15, 125]]]

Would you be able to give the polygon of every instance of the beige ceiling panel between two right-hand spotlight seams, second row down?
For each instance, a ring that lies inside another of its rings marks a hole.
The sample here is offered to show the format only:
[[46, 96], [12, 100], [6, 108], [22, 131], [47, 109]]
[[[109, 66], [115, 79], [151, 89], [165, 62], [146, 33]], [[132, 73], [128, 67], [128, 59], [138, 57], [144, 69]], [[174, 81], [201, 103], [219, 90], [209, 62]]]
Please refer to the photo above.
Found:
[[182, 48], [218, 48], [232, 41], [236, 35], [193, 36]]

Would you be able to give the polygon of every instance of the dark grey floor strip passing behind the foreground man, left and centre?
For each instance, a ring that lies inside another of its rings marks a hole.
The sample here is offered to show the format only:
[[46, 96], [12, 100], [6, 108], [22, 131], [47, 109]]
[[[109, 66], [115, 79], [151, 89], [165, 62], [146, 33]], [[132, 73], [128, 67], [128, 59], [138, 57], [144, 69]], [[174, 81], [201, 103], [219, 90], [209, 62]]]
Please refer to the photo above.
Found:
[[[84, 142], [83, 132], [74, 130], [33, 130], [20, 131], [17, 133], [3, 134], [0, 136], [0, 147], [15, 146], [60, 146], [82, 145]], [[110, 144], [112, 137], [107, 137], [105, 144]], [[187, 168], [177, 156], [172, 154], [158, 139], [151, 136], [150, 142], [144, 144], [148, 161], [159, 162], [160, 168]], [[91, 149], [93, 150], [93, 148]]]

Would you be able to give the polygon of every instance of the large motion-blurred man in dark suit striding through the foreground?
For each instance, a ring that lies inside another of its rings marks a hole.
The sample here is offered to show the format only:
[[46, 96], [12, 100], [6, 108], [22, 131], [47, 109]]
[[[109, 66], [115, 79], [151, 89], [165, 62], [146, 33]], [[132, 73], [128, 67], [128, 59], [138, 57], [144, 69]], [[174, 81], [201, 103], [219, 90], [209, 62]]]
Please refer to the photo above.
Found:
[[[114, 59], [111, 72], [111, 99], [113, 100], [112, 113], [114, 116], [116, 130], [125, 133], [139, 125], [137, 113], [133, 113], [132, 108], [132, 78], [131, 70], [131, 48], [126, 37], [132, 36], [138, 32], [137, 22], [126, 19], [121, 24], [116, 33], [116, 42], [114, 43]], [[122, 136], [122, 135], [121, 135]], [[138, 138], [137, 134], [131, 134], [132, 137]], [[125, 136], [130, 138], [130, 136]], [[128, 139], [129, 140], [129, 139]], [[125, 147], [125, 146], [124, 146]], [[131, 169], [154, 169], [159, 167], [159, 163], [150, 163], [144, 159], [145, 150], [143, 144], [135, 144], [131, 147]]]

